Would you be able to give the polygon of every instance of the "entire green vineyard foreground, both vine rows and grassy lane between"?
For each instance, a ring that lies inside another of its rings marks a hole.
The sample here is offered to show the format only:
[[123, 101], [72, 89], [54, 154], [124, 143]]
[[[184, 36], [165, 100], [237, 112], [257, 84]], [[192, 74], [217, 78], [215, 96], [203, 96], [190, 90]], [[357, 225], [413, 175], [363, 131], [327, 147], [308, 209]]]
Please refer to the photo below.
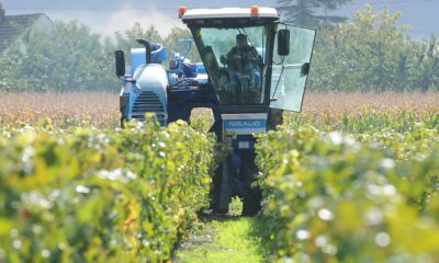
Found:
[[436, 106], [307, 108], [258, 137], [254, 218], [207, 209], [223, 151], [203, 113], [4, 125], [0, 262], [439, 262]]

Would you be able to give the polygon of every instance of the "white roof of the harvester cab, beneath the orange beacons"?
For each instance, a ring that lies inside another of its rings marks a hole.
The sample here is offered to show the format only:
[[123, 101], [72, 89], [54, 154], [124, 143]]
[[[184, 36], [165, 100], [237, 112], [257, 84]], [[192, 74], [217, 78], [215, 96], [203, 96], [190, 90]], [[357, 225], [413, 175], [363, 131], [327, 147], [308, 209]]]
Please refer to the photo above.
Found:
[[[254, 18], [250, 8], [222, 8], [222, 9], [189, 9], [185, 11], [182, 20], [194, 19], [240, 19]], [[278, 19], [279, 13], [273, 8], [259, 8], [259, 18]]]

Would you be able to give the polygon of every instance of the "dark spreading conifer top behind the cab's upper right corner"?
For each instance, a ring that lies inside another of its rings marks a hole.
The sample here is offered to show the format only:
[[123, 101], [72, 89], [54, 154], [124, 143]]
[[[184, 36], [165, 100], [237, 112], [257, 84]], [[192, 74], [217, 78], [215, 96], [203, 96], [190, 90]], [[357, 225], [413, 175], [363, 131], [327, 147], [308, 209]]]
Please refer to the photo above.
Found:
[[319, 15], [319, 11], [329, 11], [352, 0], [278, 0], [278, 10], [289, 22], [299, 25], [318, 26], [344, 21], [337, 15]]

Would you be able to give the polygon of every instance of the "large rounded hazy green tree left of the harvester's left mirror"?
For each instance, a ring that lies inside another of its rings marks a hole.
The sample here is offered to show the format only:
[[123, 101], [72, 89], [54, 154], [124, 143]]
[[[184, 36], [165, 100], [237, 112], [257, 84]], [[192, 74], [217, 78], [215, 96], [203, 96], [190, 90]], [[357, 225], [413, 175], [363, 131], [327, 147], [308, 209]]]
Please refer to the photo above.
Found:
[[112, 53], [78, 22], [55, 22], [49, 31], [26, 31], [0, 56], [5, 91], [93, 91], [116, 87]]

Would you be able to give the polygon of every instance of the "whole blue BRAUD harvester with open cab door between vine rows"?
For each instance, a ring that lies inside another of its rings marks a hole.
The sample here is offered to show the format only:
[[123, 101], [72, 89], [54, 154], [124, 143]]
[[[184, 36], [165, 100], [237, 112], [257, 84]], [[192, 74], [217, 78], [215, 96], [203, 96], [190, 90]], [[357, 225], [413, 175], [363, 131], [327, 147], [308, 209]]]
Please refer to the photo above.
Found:
[[160, 47], [146, 45], [145, 64], [125, 75], [123, 55], [116, 52], [123, 118], [140, 118], [133, 111], [143, 107], [142, 113], [154, 112], [167, 125], [189, 121], [193, 108], [212, 108], [212, 132], [233, 148], [213, 180], [212, 208], [227, 213], [232, 197], [239, 196], [243, 214], [256, 214], [261, 193], [251, 186], [257, 174], [254, 135], [281, 124], [283, 111], [301, 111], [316, 32], [280, 21], [275, 9], [256, 5], [181, 7], [179, 16], [202, 61], [185, 64], [193, 75], [181, 68], [184, 55], [177, 59], [180, 68], [165, 70], [157, 64], [165, 57], [158, 55]]

